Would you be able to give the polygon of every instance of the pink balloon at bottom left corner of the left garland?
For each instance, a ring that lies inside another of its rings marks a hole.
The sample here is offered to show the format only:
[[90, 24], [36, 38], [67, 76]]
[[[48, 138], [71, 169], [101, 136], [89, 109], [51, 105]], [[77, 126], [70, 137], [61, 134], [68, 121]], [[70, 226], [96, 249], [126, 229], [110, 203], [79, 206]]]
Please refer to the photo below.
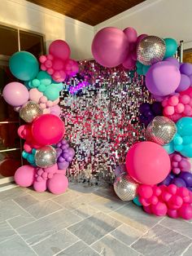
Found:
[[21, 187], [29, 187], [35, 180], [35, 168], [33, 166], [21, 166], [15, 171], [15, 183]]

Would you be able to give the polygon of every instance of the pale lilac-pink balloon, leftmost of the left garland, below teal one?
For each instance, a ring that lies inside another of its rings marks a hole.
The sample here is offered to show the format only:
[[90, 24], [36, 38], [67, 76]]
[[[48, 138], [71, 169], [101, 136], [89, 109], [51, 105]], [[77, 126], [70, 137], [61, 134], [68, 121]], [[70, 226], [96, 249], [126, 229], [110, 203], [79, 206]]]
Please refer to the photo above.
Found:
[[10, 82], [2, 90], [2, 96], [11, 106], [19, 107], [28, 101], [29, 93], [22, 83]]

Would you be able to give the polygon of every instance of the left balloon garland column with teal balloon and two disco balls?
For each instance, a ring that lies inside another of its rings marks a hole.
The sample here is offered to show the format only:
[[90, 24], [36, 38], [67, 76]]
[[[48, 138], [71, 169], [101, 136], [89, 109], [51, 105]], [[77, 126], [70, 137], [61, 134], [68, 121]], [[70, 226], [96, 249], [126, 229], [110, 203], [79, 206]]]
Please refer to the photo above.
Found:
[[20, 118], [27, 122], [18, 129], [24, 139], [22, 157], [30, 165], [15, 172], [15, 183], [33, 186], [37, 192], [60, 194], [68, 188], [66, 170], [75, 151], [63, 139], [65, 127], [59, 118], [59, 92], [63, 82], [78, 72], [78, 64], [70, 58], [70, 47], [63, 40], [50, 44], [49, 55], [41, 55], [39, 64], [34, 55], [18, 51], [11, 56], [11, 73], [22, 82], [7, 84], [2, 96]]

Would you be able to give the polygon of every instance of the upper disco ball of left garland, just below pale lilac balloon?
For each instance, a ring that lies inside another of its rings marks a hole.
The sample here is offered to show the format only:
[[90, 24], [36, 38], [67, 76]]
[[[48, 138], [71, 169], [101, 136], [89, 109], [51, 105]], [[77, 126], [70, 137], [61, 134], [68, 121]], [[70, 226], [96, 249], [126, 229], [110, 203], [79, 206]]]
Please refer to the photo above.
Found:
[[43, 113], [39, 104], [28, 101], [22, 108], [20, 108], [20, 118], [26, 122], [32, 122], [35, 118], [41, 116]]

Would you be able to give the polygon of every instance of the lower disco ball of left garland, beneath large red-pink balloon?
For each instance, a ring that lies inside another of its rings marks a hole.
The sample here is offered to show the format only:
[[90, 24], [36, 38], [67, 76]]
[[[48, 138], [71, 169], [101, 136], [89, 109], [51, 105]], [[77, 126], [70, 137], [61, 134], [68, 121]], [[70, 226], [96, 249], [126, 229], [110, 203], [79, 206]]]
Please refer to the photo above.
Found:
[[57, 154], [55, 148], [46, 146], [37, 149], [35, 153], [35, 163], [41, 168], [55, 165], [57, 162]]

